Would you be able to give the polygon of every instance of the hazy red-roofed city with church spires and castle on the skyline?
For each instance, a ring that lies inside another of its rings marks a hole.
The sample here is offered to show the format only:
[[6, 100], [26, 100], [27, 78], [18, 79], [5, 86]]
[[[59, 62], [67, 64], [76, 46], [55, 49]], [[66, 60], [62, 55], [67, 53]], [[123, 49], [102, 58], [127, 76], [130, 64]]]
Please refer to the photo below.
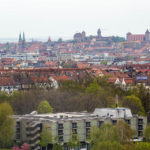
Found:
[[27, 42], [25, 33], [17, 43], [0, 44], [0, 88], [11, 93], [32, 89], [57, 88], [58, 81], [78, 81], [85, 75], [105, 76], [109, 83], [149, 86], [150, 32], [127, 33], [126, 38], [76, 33], [63, 41]]

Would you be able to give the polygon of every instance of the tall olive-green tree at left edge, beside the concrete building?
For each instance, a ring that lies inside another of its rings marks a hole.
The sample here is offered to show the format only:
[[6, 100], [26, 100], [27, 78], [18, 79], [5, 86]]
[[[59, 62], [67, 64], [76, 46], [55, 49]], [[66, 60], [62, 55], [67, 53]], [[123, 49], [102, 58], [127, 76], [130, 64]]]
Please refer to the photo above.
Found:
[[0, 104], [0, 146], [9, 147], [13, 142], [13, 119], [11, 106], [4, 102]]

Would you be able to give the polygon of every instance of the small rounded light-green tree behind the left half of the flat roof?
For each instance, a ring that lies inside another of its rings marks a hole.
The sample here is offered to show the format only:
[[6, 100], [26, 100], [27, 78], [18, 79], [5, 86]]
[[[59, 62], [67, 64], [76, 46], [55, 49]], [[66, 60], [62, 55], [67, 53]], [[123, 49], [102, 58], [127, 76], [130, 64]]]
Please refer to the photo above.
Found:
[[46, 113], [52, 113], [53, 112], [53, 108], [51, 107], [51, 105], [49, 104], [48, 101], [43, 100], [40, 102], [37, 111], [39, 114], [46, 114]]

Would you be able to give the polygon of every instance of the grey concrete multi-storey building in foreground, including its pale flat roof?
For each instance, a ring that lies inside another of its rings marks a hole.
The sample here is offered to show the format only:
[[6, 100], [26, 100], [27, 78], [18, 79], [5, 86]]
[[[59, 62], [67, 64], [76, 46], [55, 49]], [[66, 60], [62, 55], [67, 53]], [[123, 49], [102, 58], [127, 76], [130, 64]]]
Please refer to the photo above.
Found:
[[[73, 134], [78, 135], [81, 150], [89, 150], [88, 136], [92, 126], [100, 127], [104, 122], [117, 124], [118, 120], [125, 120], [129, 126], [137, 132], [136, 137], [143, 136], [143, 130], [147, 125], [147, 118], [132, 115], [128, 108], [103, 108], [95, 109], [94, 113], [87, 112], [69, 112], [56, 114], [28, 114], [23, 116], [14, 116], [15, 140], [16, 142], [27, 142], [31, 149], [40, 149], [39, 140], [42, 128], [46, 128], [52, 133], [54, 143], [61, 142], [64, 149]], [[55, 138], [57, 137], [57, 138]], [[52, 148], [52, 143], [48, 149]]]

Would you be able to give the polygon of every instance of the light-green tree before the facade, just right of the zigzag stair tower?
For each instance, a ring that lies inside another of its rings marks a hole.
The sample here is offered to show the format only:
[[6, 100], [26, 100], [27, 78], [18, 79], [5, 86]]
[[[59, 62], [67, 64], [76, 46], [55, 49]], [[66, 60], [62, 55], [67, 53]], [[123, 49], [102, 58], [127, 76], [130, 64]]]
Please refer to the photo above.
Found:
[[53, 142], [53, 140], [52, 140], [52, 134], [51, 134], [51, 132], [50, 132], [50, 129], [47, 128], [47, 125], [45, 125], [45, 126], [43, 127], [42, 132], [41, 132], [41, 134], [40, 134], [40, 137], [41, 137], [41, 140], [40, 140], [40, 143], [39, 143], [39, 144], [40, 144], [42, 147], [47, 147], [47, 145], [48, 145], [49, 143], [52, 143], [52, 142]]

